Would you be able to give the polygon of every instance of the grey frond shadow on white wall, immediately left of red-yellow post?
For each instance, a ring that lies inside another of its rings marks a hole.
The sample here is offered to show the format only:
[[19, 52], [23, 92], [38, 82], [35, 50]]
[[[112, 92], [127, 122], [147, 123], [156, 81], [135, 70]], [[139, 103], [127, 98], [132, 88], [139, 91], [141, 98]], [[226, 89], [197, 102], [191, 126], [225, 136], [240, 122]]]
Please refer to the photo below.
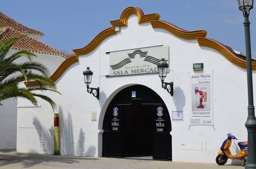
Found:
[[36, 131], [40, 139], [40, 153], [53, 154], [53, 126], [47, 129], [42, 126], [37, 117], [33, 118], [33, 125], [35, 128], [39, 129]]

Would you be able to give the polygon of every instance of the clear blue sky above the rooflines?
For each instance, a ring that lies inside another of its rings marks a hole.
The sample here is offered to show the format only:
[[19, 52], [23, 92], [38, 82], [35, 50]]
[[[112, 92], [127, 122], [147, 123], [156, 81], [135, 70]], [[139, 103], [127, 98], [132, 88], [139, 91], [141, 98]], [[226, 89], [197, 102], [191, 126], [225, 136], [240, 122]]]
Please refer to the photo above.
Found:
[[[1, 1], [0, 11], [44, 33], [40, 41], [71, 54], [112, 27], [110, 21], [119, 19], [127, 7], [158, 13], [160, 20], [186, 31], [206, 30], [207, 38], [245, 53], [244, 17], [237, 0], [12, 0]], [[249, 21], [251, 53], [256, 58], [256, 7]]]

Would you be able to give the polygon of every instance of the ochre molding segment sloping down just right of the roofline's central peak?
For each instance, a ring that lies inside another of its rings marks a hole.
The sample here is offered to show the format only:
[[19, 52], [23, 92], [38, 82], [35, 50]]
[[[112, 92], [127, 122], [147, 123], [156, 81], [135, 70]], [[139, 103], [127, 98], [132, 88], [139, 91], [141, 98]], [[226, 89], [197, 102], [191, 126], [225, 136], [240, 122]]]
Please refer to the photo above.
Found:
[[172, 32], [176, 36], [179, 36], [183, 39], [192, 40], [192, 39], [196, 39], [198, 37], [206, 37], [206, 35], [207, 35], [207, 32], [205, 30], [185, 31], [185, 30], [182, 30], [168, 22], [165, 22], [165, 21], [152, 20], [150, 22], [151, 22], [151, 25], [153, 28], [164, 29], [166, 31]]

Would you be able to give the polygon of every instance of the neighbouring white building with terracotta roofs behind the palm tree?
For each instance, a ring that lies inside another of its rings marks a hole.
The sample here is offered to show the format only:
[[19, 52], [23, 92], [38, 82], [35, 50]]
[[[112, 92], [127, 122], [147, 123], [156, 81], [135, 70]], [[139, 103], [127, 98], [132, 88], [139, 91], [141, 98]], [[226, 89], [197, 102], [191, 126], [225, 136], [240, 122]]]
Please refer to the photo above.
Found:
[[[44, 34], [40, 31], [28, 28], [16, 20], [0, 12], [0, 22], [3, 28], [0, 29], [0, 42], [13, 37], [27, 35], [17, 41], [9, 52], [9, 55], [19, 50], [28, 50], [36, 54], [33, 61], [45, 64], [52, 75], [59, 65], [66, 60], [66, 55], [54, 49], [53, 47], [40, 42], [38, 39]], [[26, 57], [19, 61], [28, 61]], [[0, 106], [0, 149], [16, 149], [17, 136], [17, 99], [11, 98], [1, 102]], [[23, 108], [23, 105], [18, 105]]]

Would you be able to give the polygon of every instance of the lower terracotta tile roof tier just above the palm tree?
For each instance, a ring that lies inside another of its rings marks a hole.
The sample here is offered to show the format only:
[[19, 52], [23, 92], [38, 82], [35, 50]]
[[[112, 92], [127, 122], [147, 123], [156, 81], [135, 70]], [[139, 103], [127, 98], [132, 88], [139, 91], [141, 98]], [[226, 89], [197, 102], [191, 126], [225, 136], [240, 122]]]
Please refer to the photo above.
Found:
[[[10, 27], [5, 27], [2, 30], [0, 30], [0, 42], [2, 42], [3, 40], [8, 40], [13, 37], [19, 37], [22, 35], [25, 35], [25, 34], [22, 32], [16, 31]], [[27, 50], [35, 53], [42, 53], [42, 54], [48, 54], [48, 55], [58, 55], [66, 58], [66, 55], [64, 53], [30, 36], [25, 36], [19, 39], [16, 43], [14, 43], [13, 49]]]

